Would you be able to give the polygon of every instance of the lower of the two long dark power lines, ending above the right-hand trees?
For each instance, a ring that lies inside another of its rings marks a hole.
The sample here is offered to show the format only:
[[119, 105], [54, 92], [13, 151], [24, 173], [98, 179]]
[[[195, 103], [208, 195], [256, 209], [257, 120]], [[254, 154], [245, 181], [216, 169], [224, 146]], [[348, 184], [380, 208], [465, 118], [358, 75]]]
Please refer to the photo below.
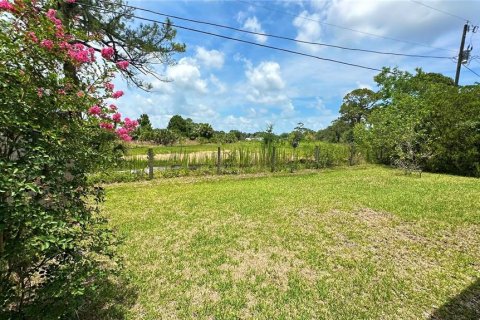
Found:
[[[95, 5], [88, 5], [88, 4], [84, 4], [84, 3], [78, 3], [78, 4], [80, 4], [80, 5], [82, 5], [82, 6], [85, 6], [85, 7], [96, 8], [96, 9], [102, 10], [102, 11], [104, 11], [104, 12], [117, 13], [117, 12], [114, 11], [114, 10], [105, 9], [105, 8], [102, 8], [102, 7], [99, 7], [99, 6], [95, 6]], [[149, 18], [139, 17], [139, 16], [136, 16], [136, 15], [134, 15], [134, 14], [130, 14], [129, 17], [132, 17], [132, 18], [135, 18], [135, 19], [139, 19], [139, 20], [144, 20], [144, 21], [159, 23], [159, 24], [162, 24], [162, 25], [166, 25], [165, 22], [162, 22], [162, 21], [159, 21], [159, 20], [155, 20], [155, 19], [149, 19]], [[177, 24], [173, 24], [173, 23], [171, 24], [171, 26], [172, 26], [172, 27], [175, 27], [175, 28], [178, 28], [178, 29], [188, 30], [188, 31], [192, 31], [192, 32], [202, 33], [202, 34], [207, 34], [207, 35], [214, 36], [214, 37], [219, 37], [219, 38], [223, 38], [223, 39], [227, 39], [227, 40], [232, 40], [232, 41], [237, 41], [237, 42], [243, 42], [243, 43], [251, 44], [251, 45], [254, 45], [254, 46], [258, 46], [258, 47], [273, 49], [273, 50], [277, 50], [277, 51], [283, 51], [283, 52], [287, 52], [287, 53], [291, 53], [291, 54], [296, 54], [296, 55], [300, 55], [300, 56], [305, 56], [305, 57], [310, 57], [310, 58], [314, 58], [314, 59], [318, 59], [318, 60], [322, 60], [322, 61], [334, 62], [334, 63], [338, 63], [338, 64], [343, 64], [343, 65], [347, 65], [347, 66], [351, 66], [351, 67], [362, 68], [362, 69], [367, 69], [367, 70], [372, 70], [372, 71], [379, 71], [379, 72], [382, 71], [381, 69], [378, 69], [378, 68], [367, 67], [367, 66], [363, 66], [363, 65], [359, 65], [359, 64], [355, 64], [355, 63], [350, 63], [350, 62], [344, 62], [344, 61], [335, 60], [335, 59], [322, 58], [322, 57], [315, 56], [315, 55], [308, 54], [308, 53], [303, 53], [303, 52], [299, 52], [299, 51], [294, 51], [294, 50], [289, 50], [289, 49], [274, 47], [274, 46], [270, 46], [270, 45], [260, 44], [260, 43], [256, 43], [256, 42], [253, 42], [253, 41], [248, 41], [248, 40], [242, 40], [242, 39], [238, 39], [238, 38], [228, 37], [228, 36], [224, 36], [224, 35], [221, 35], [221, 34], [212, 33], [212, 32], [203, 31], [203, 30], [198, 30], [198, 29], [189, 28], [189, 27], [184, 27], [184, 26], [180, 26], [180, 25], [177, 25]]]

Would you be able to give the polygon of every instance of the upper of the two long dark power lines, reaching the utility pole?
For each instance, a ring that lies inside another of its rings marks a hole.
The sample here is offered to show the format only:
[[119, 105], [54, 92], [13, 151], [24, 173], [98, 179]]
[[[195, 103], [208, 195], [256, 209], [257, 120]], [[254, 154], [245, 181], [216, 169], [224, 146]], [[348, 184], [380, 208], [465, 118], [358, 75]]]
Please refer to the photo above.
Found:
[[234, 30], [234, 31], [238, 31], [238, 32], [252, 34], [252, 35], [266, 36], [266, 37], [271, 37], [271, 38], [288, 40], [288, 41], [293, 41], [293, 42], [303, 43], [303, 44], [311, 44], [311, 45], [318, 45], [318, 46], [324, 46], [324, 47], [330, 47], [330, 48], [336, 48], [336, 49], [342, 49], [342, 50], [360, 51], [360, 52], [368, 52], [368, 53], [375, 53], [375, 54], [382, 54], [382, 55], [393, 55], [393, 56], [403, 56], [403, 57], [413, 57], [413, 58], [451, 59], [451, 57], [446, 57], [446, 56], [431, 56], [431, 55], [418, 55], [418, 54], [407, 54], [407, 53], [398, 53], [398, 52], [384, 52], [384, 51], [368, 50], [368, 49], [361, 49], [361, 48], [350, 48], [350, 47], [339, 46], [339, 45], [328, 44], [328, 43], [321, 43], [321, 42], [304, 41], [304, 40], [293, 39], [293, 38], [285, 37], [285, 36], [279, 36], [279, 35], [273, 35], [273, 34], [268, 34], [268, 33], [244, 30], [244, 29], [235, 28], [235, 27], [226, 26], [226, 25], [213, 23], [213, 22], [208, 22], [208, 21], [195, 20], [195, 19], [190, 19], [190, 18], [183, 18], [183, 17], [179, 17], [179, 16], [175, 16], [175, 15], [171, 15], [171, 14], [166, 14], [166, 13], [162, 13], [162, 12], [158, 12], [158, 11], [154, 11], [154, 10], [150, 10], [150, 9], [140, 8], [140, 7], [136, 7], [136, 6], [130, 6], [130, 5], [122, 5], [122, 6], [127, 7], [127, 8], [131, 8], [131, 9], [135, 9], [135, 10], [139, 10], [139, 11], [153, 13], [153, 14], [160, 15], [160, 16], [173, 18], [173, 19], [178, 19], [178, 20], [183, 20], [183, 21], [188, 21], [188, 22], [194, 22], [194, 23], [199, 23], [199, 24], [204, 24], [204, 25], [210, 25], [210, 26], [214, 26], [214, 27]]

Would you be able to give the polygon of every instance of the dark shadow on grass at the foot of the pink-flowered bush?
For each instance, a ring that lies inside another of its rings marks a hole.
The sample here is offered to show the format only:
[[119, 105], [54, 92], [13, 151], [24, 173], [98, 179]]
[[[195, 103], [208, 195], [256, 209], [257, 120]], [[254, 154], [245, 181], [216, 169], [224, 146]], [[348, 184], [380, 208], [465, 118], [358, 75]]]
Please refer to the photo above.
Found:
[[125, 319], [138, 297], [137, 288], [125, 277], [117, 276], [103, 281], [95, 294], [77, 311], [82, 320]]

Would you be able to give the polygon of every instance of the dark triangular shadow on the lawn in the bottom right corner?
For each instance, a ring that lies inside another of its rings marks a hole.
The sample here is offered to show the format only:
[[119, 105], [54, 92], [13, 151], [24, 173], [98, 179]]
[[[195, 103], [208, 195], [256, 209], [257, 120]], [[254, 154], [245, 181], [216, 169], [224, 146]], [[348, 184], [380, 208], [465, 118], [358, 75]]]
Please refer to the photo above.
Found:
[[480, 319], [480, 279], [435, 310], [430, 320]]

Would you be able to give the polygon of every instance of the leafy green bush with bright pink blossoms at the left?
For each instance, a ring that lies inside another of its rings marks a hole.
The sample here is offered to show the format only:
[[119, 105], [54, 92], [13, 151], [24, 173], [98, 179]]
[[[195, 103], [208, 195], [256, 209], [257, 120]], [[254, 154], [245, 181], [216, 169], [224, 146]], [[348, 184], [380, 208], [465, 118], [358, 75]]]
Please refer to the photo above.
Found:
[[112, 81], [135, 82], [145, 61], [105, 40], [114, 29], [83, 31], [98, 17], [75, 0], [0, 0], [1, 319], [103, 310], [89, 303], [117, 269], [87, 176], [131, 139], [137, 122], [112, 103], [124, 94]]

